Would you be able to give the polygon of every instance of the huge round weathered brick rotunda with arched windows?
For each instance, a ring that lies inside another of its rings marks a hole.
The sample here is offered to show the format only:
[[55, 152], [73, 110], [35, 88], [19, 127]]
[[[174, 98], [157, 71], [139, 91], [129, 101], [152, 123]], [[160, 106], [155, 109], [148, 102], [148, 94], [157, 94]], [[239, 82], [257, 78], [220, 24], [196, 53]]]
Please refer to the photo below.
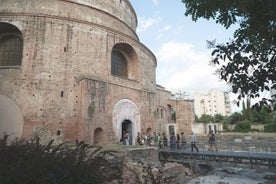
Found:
[[[170, 92], [128, 0], [1, 0], [0, 134], [111, 143], [168, 131]], [[161, 110], [162, 109], [162, 110]], [[161, 116], [160, 116], [161, 117]]]

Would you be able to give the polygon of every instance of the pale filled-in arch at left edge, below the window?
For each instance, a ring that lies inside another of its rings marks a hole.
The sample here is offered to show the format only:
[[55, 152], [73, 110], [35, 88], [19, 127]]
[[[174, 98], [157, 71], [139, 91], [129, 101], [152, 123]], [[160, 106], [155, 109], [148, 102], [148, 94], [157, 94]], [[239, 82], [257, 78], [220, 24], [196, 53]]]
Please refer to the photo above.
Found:
[[0, 95], [0, 137], [21, 138], [24, 119], [20, 108], [10, 98]]

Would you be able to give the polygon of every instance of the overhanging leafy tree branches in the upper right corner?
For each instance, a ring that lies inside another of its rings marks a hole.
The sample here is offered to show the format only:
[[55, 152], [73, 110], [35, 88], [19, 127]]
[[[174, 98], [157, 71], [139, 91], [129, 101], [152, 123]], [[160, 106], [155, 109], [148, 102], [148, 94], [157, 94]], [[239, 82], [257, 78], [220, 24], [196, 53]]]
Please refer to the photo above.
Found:
[[[276, 89], [276, 1], [275, 0], [182, 0], [185, 15], [193, 21], [214, 19], [229, 28], [239, 24], [231, 41], [209, 42], [212, 63], [218, 75], [232, 87], [240, 100], [258, 98], [260, 93]], [[255, 106], [267, 105], [262, 98]], [[275, 108], [275, 107], [274, 107]]]

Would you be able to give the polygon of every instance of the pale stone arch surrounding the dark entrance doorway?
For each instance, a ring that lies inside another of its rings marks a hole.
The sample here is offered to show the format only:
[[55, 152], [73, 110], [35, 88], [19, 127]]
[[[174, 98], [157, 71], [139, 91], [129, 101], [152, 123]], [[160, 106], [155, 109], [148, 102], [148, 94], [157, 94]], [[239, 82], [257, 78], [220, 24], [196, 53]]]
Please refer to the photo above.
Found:
[[138, 132], [141, 132], [140, 111], [137, 105], [129, 99], [119, 100], [112, 115], [113, 130], [116, 138], [122, 139], [124, 126], [131, 128], [130, 142], [135, 144]]

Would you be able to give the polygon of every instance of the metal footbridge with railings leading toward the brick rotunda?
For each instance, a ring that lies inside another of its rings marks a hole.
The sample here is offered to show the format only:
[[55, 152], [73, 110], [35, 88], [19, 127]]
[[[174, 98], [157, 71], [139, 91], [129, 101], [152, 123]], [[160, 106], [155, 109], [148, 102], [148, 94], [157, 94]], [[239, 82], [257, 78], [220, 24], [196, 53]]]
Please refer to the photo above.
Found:
[[[164, 144], [165, 143], [165, 144]], [[161, 142], [159, 144], [159, 160], [189, 163], [231, 163], [276, 166], [276, 142], [260, 141], [216, 141], [213, 151], [209, 150], [208, 141], [196, 143], [198, 148], [191, 152], [191, 144]], [[217, 150], [217, 151], [216, 151]], [[215, 161], [215, 162], [214, 162]]]

